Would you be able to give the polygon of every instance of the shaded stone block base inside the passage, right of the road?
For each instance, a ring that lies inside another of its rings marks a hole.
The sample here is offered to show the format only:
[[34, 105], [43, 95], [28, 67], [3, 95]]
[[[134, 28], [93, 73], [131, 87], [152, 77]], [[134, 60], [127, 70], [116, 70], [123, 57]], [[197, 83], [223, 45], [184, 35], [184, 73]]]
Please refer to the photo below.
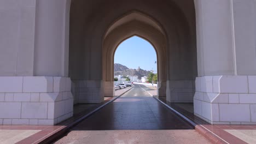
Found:
[[193, 103], [194, 83], [193, 80], [167, 81], [166, 100], [171, 103]]

